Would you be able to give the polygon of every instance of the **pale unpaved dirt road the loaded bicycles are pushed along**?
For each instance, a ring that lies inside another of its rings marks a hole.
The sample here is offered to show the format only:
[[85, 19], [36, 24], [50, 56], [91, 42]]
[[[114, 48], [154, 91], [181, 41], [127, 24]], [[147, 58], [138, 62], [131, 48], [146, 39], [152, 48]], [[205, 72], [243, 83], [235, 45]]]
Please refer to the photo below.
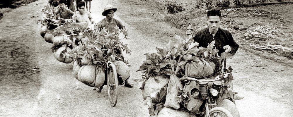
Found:
[[[31, 42], [23, 41], [23, 43], [28, 48], [32, 48], [30, 50], [34, 55], [30, 56], [27, 61], [30, 61], [32, 66], [40, 68], [38, 70], [40, 72], [30, 75], [37, 80], [21, 82], [19, 85], [10, 85], [10, 82], [19, 80], [19, 78], [13, 79], [16, 76], [5, 75], [12, 79], [1, 82], [0, 116], [149, 116], [141, 90], [136, 85], [134, 88], [120, 86], [117, 105], [112, 107], [105, 88], [100, 93], [93, 91], [92, 87], [84, 85], [74, 78], [71, 70], [72, 63], [60, 63], [54, 58], [50, 50], [52, 44], [46, 43], [40, 37], [40, 25], [34, 22], [42, 16], [40, 11], [46, 2], [46, 0], [40, 0], [16, 8], [0, 20], [1, 39], [17, 41], [18, 36], [35, 38], [28, 39]], [[132, 54], [126, 56], [131, 64], [131, 81], [141, 77], [141, 73], [135, 71], [145, 60], [144, 53], [154, 52], [155, 47], [163, 46], [175, 34], [184, 35], [183, 31], [165, 23], [163, 15], [156, 9], [137, 0], [92, 1], [91, 14], [96, 22], [104, 18], [101, 13], [106, 4], [117, 6], [115, 18], [122, 21], [129, 30], [128, 34], [131, 39], [125, 40], [125, 43], [129, 44], [128, 46], [132, 50]], [[38, 17], [30, 18], [32, 15]], [[24, 30], [24, 28], [30, 30]], [[11, 37], [9, 34], [13, 34], [13, 36]], [[239, 49], [227, 64], [234, 69], [234, 90], [245, 97], [236, 101], [242, 117], [293, 116], [292, 67], [262, 59], [242, 49]]]

